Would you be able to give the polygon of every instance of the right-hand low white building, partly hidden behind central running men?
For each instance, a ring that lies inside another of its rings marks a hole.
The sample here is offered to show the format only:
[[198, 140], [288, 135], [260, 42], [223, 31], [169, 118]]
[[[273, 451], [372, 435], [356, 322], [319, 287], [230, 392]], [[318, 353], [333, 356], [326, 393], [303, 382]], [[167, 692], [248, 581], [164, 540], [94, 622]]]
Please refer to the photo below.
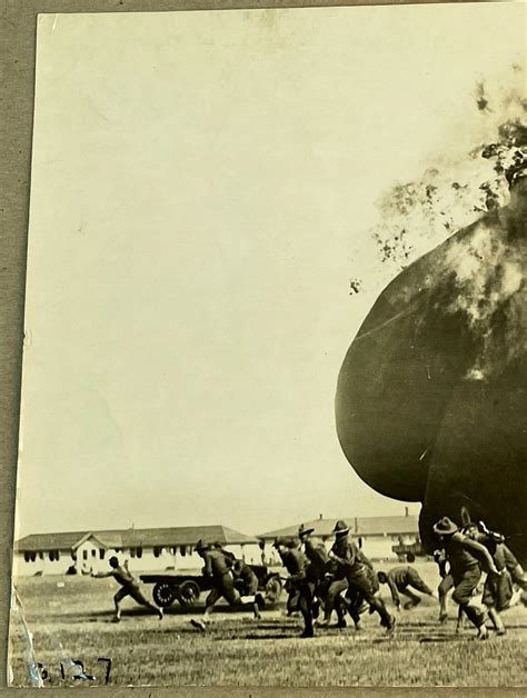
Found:
[[[274, 561], [271, 548], [276, 538], [280, 536], [296, 536], [298, 527], [304, 524], [306, 528], [314, 528], [314, 537], [320, 538], [329, 548], [335, 540], [332, 532], [337, 518], [342, 518], [349, 526], [350, 534], [356, 542], [359, 544], [364, 552], [372, 560], [387, 560], [397, 558], [394, 548], [401, 545], [406, 548], [420, 551], [418, 517], [408, 513], [406, 509], [405, 516], [374, 516], [374, 517], [319, 517], [311, 521], [298, 521], [294, 526], [281, 528], [257, 536], [265, 545], [267, 557]], [[411, 547], [411, 548], [410, 548]]]

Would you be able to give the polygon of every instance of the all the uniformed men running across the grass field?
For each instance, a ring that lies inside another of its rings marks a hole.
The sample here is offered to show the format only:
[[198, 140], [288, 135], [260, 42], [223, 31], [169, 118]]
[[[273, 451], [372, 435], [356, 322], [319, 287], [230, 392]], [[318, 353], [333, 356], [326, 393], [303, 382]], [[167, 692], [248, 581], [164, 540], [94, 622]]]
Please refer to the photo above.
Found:
[[[448, 517], [443, 517], [434, 526], [438, 548], [434, 558], [438, 565], [441, 581], [437, 592], [430, 589], [410, 565], [398, 566], [385, 571], [375, 571], [371, 561], [352, 540], [349, 527], [339, 520], [334, 528], [335, 541], [328, 551], [322, 541], [312, 538], [315, 529], [299, 527], [296, 537], [275, 540], [281, 562], [288, 572], [286, 610], [288, 615], [300, 614], [304, 630], [300, 637], [315, 635], [315, 626], [328, 627], [332, 612], [337, 615], [337, 627], [347, 626], [347, 616], [360, 630], [360, 617], [365, 612], [377, 614], [380, 626], [392, 632], [396, 617], [390, 614], [379, 595], [380, 585], [387, 585], [395, 607], [400, 610], [404, 595], [408, 600], [405, 609], [417, 606], [421, 597], [414, 590], [438, 598], [439, 621], [447, 619], [447, 595], [453, 589], [453, 600], [459, 606], [458, 627], [463, 616], [477, 628], [477, 637], [488, 637], [487, 620], [490, 619], [496, 632], [503, 635], [505, 626], [500, 612], [513, 602], [515, 587], [525, 594], [525, 572], [500, 534], [490, 531], [483, 521], [465, 521], [458, 527]], [[259, 580], [253, 569], [243, 560], [238, 560], [221, 544], [199, 541], [196, 552], [203, 560], [203, 576], [211, 581], [211, 590], [206, 600], [205, 614], [192, 618], [195, 628], [205, 631], [216, 602], [223, 598], [232, 607], [252, 607], [255, 618], [260, 618], [266, 601], [258, 590]], [[408, 556], [408, 561], [414, 561]], [[139, 584], [120, 566], [117, 558], [110, 559], [111, 571], [98, 577], [112, 576], [121, 585], [115, 596], [116, 620], [120, 619], [120, 601], [131, 596], [137, 602], [155, 610], [162, 618], [162, 609], [146, 599]], [[483, 606], [475, 595], [486, 572], [483, 591]], [[320, 616], [322, 617], [320, 618]]]

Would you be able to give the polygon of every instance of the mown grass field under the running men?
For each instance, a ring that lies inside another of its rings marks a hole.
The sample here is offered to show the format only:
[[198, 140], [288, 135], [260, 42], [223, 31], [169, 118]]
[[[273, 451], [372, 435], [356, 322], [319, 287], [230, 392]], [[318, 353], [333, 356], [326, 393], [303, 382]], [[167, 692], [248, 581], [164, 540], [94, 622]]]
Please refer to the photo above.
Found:
[[[434, 565], [419, 570], [437, 586]], [[107, 579], [33, 577], [19, 580], [17, 589], [36, 658], [49, 674], [46, 686], [105, 684], [106, 664], [97, 661], [101, 657], [112, 660], [109, 685], [125, 686], [527, 685], [527, 609], [521, 606], [504, 614], [507, 635], [493, 634], [486, 642], [475, 640], [468, 626], [456, 634], [451, 604], [450, 620], [438, 625], [437, 606], [428, 599], [399, 615], [392, 637], [376, 616], [366, 615], [359, 634], [349, 627], [320, 629], [317, 637], [302, 640], [301, 621], [286, 618], [284, 604], [266, 610], [260, 621], [218, 606], [210, 630], [199, 634], [189, 620], [202, 605], [191, 611], [175, 605], [160, 621], [126, 600], [121, 622], [112, 624], [117, 585]], [[388, 601], [386, 591], [382, 596]], [[31, 684], [26, 647], [21, 616], [14, 611], [13, 686]], [[96, 678], [72, 679], [72, 659], [81, 660], [86, 674]]]

